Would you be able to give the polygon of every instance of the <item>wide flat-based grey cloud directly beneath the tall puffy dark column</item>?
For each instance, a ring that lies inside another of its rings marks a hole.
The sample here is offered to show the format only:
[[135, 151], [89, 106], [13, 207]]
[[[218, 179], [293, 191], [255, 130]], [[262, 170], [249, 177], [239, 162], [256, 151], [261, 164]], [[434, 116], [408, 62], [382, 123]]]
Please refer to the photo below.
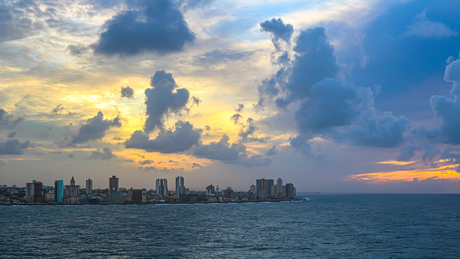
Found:
[[189, 122], [178, 121], [174, 131], [161, 131], [155, 139], [138, 130], [125, 142], [126, 148], [143, 149], [147, 152], [179, 153], [198, 145], [201, 130], [194, 129]]

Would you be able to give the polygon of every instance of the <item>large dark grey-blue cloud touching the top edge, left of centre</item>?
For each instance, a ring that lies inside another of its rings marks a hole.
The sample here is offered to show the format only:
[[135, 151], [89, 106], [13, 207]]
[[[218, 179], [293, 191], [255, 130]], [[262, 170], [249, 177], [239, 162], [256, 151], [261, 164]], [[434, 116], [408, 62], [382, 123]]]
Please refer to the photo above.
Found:
[[132, 56], [143, 52], [167, 54], [181, 51], [195, 40], [184, 16], [171, 0], [127, 2], [123, 11], [104, 25], [94, 45], [98, 54]]

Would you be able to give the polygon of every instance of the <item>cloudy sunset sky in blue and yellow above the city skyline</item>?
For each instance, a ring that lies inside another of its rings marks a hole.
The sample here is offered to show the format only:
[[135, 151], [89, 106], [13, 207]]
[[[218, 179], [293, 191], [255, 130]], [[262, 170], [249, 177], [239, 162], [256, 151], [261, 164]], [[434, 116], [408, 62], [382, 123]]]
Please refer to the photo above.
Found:
[[0, 184], [460, 193], [460, 3], [0, 0]]

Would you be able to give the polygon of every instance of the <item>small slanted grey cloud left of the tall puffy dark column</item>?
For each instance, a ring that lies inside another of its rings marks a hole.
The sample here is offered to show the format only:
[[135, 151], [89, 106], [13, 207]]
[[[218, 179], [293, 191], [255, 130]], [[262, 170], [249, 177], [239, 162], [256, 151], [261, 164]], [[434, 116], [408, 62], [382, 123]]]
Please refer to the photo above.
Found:
[[89, 140], [101, 139], [110, 127], [121, 127], [120, 118], [104, 120], [102, 112], [98, 112], [96, 116], [88, 119], [85, 124], [80, 126], [78, 134], [72, 139], [71, 144], [81, 144]]

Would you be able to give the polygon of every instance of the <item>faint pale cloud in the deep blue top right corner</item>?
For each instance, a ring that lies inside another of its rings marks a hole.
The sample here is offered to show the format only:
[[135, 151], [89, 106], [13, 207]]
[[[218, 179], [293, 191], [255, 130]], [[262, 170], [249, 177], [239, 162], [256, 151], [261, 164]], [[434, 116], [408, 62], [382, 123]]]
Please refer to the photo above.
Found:
[[458, 34], [443, 23], [428, 20], [426, 18], [426, 11], [427, 8], [417, 15], [417, 21], [407, 26], [406, 36], [414, 35], [423, 38], [449, 38]]

